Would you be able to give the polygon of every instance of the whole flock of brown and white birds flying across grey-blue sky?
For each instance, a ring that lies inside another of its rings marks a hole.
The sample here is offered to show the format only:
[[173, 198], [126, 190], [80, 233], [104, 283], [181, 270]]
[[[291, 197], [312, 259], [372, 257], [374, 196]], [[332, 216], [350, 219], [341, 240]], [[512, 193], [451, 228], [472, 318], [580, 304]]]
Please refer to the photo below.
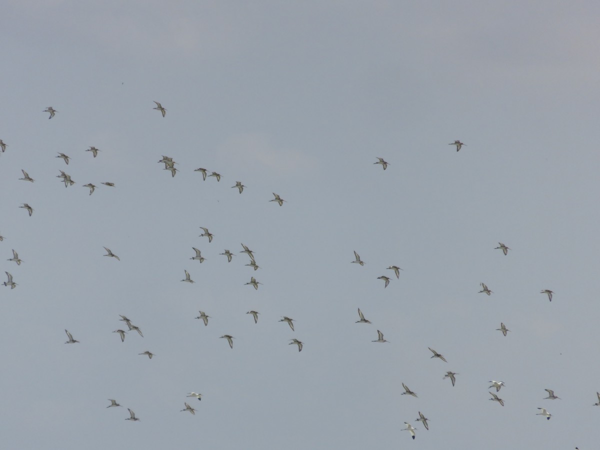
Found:
[[[154, 108], [155, 110], [158, 110], [158, 112], [161, 113], [161, 115], [163, 117], [166, 116], [166, 112], [167, 110], [157, 101], [154, 102], [156, 104], [156, 107]], [[56, 113], [58, 113], [58, 110], [53, 109], [53, 107], [47, 107], [47, 109], [44, 110], [44, 112], [48, 112], [50, 114], [49, 119], [52, 119], [55, 117]], [[454, 142], [450, 143], [449, 145], [454, 145], [457, 149], [457, 151], [460, 151], [460, 149], [465, 146], [464, 143], [460, 142], [460, 140], [455, 140]], [[5, 152], [7, 149], [8, 145], [6, 143], [4, 143], [1, 139], [0, 139], [0, 149], [2, 152]], [[91, 146], [89, 149], [86, 149], [86, 152], [91, 152], [92, 156], [94, 158], [96, 158], [98, 156], [98, 152], [100, 152], [99, 149], [95, 148], [94, 146]], [[64, 161], [64, 163], [68, 166], [69, 161], [70, 161], [70, 157], [68, 157], [68, 155], [59, 152], [58, 156], [56, 156], [56, 158], [60, 158]], [[167, 157], [164, 156], [161, 158], [161, 160], [158, 161], [158, 163], [164, 163], [164, 170], [169, 170], [169, 172], [171, 173], [172, 177], [174, 177], [176, 175], [176, 173], [179, 171], [179, 169], [176, 169], [175, 164], [176, 162], [173, 160], [173, 158], [171, 157]], [[381, 157], [377, 157], [377, 162], [374, 164], [379, 164], [380, 166], [382, 166], [383, 170], [386, 170], [388, 168], [389, 163], [387, 161], [385, 161], [383, 158]], [[71, 176], [68, 175], [67, 173], [65, 173], [63, 170], [60, 170], [60, 175], [57, 175], [57, 178], [60, 178], [62, 182], [64, 182], [65, 187], [70, 187], [72, 185], [75, 184], [75, 182], [73, 181], [73, 179], [71, 179]], [[202, 178], [203, 181], [206, 181], [207, 178], [212, 177], [215, 178], [217, 180], [217, 182], [221, 181], [221, 175], [220, 173], [217, 172], [211, 172], [208, 173], [208, 170], [200, 167], [198, 169], [195, 169], [194, 172], [200, 172], [202, 174]], [[33, 178], [31, 178], [31, 176], [29, 176], [28, 172], [26, 172], [25, 170], [22, 169], [22, 173], [23, 173], [23, 178], [19, 178], [20, 180], [23, 181], [27, 181], [27, 182], [34, 182], [35, 180]], [[107, 187], [115, 187], [115, 183], [113, 182], [103, 182], [101, 183], [103, 185], [106, 185]], [[97, 188], [96, 185], [92, 184], [92, 183], [88, 183], [83, 185], [83, 187], [89, 188], [89, 195], [93, 194], [95, 189]], [[236, 188], [239, 191], [239, 194], [242, 194], [242, 192], [244, 191], [245, 185], [242, 184], [242, 182], [240, 181], [236, 181], [236, 184], [232, 186], [232, 188]], [[286, 202], [286, 200], [282, 199], [278, 194], [273, 193], [274, 198], [269, 200], [270, 202], [276, 202], [279, 206], [283, 206], [283, 203]], [[26, 211], [28, 212], [29, 216], [31, 217], [31, 215], [34, 213], [34, 209], [28, 204], [28, 203], [23, 203], [21, 206], [19, 206], [19, 208], [23, 208], [26, 209]], [[212, 242], [212, 239], [214, 237], [214, 235], [208, 230], [208, 228], [206, 227], [200, 227], [200, 229], [202, 229], [203, 233], [201, 235], [199, 235], [200, 237], [204, 237], [208, 239], [208, 242]], [[0, 241], [4, 240], [3, 236], [0, 236]], [[247, 254], [249, 261], [247, 264], [245, 264], [246, 266], [250, 266], [250, 268], [252, 268], [254, 271], [257, 271], [257, 269], [260, 268], [259, 265], [257, 265], [256, 263], [256, 259], [254, 257], [254, 251], [250, 250], [250, 248], [248, 248], [247, 245], [245, 244], [241, 244], [242, 245], [242, 250], [240, 250], [239, 253], [245, 253]], [[107, 257], [112, 257], [115, 260], [120, 261], [119, 256], [117, 256], [115, 253], [113, 253], [112, 250], [110, 250], [107, 247], [104, 247], [104, 250], [106, 251], [106, 254], [104, 254], [104, 256]], [[196, 260], [199, 261], [199, 263], [203, 263], [205, 261], [205, 257], [202, 256], [202, 252], [196, 248], [196, 247], [192, 247], [192, 250], [194, 251], [194, 256], [192, 256], [190, 259], [191, 260]], [[508, 255], [508, 251], [511, 250], [511, 248], [509, 248], [507, 245], [503, 244], [502, 242], [498, 243], [498, 247], [495, 247], [494, 250], [500, 250], [502, 251], [502, 253], [507, 256]], [[17, 266], [20, 266], [21, 263], [23, 262], [23, 260], [20, 259], [19, 254], [17, 253], [16, 250], [12, 250], [12, 254], [13, 257], [11, 257], [10, 259], [8, 259], [9, 262], [14, 262], [17, 264]], [[227, 262], [232, 262], [232, 258], [233, 256], [236, 256], [235, 253], [232, 253], [232, 251], [225, 249], [223, 251], [223, 253], [220, 253], [220, 255], [225, 256], [227, 258]], [[351, 263], [355, 263], [358, 264], [359, 266], [364, 266], [365, 262], [361, 260], [360, 255], [354, 251], [354, 257], [355, 259], [350, 261]], [[395, 275], [395, 278], [399, 279], [400, 278], [400, 271], [402, 271], [403, 269], [401, 269], [398, 266], [395, 265], [391, 265], [388, 266], [388, 268], [391, 271], [393, 271], [393, 274]], [[5, 287], [10, 287], [11, 289], [15, 289], [15, 287], [18, 286], [18, 284], [14, 281], [13, 275], [10, 274], [10, 272], [6, 271], [5, 272], [6, 276], [7, 276], [7, 281], [5, 281], [3, 284]], [[194, 283], [194, 280], [191, 278], [190, 272], [187, 271], [187, 269], [184, 269], [184, 274], [185, 277], [181, 280], [184, 283]], [[384, 282], [384, 288], [388, 287], [389, 284], [391, 283], [393, 277], [388, 277], [386, 275], [381, 275], [380, 277], [377, 277], [377, 279], [382, 280]], [[247, 283], [245, 283], [246, 285], [252, 286], [254, 287], [254, 289], [258, 290], [259, 289], [259, 285], [262, 284], [259, 281], [256, 280], [256, 278], [251, 277], [250, 281], [248, 281]], [[479, 293], [485, 293], [486, 295], [491, 295], [493, 293], [492, 290], [490, 290], [487, 286], [487, 284], [485, 283], [480, 283], [481, 286], [481, 290], [479, 290]], [[553, 294], [554, 292], [550, 289], [542, 289], [540, 291], [540, 293], [547, 295], [548, 300], [551, 302], [553, 299]], [[247, 311], [246, 314], [250, 314], [251, 317], [254, 320], [254, 323], [258, 323], [259, 321], [259, 312], [258, 311]], [[208, 322], [209, 322], [209, 318], [211, 316], [208, 316], [204, 311], [199, 311], [199, 316], [196, 317], [196, 319], [202, 320], [205, 326], [208, 326]], [[365, 323], [365, 324], [371, 324], [370, 320], [367, 320], [364, 316], [364, 314], [362, 313], [361, 309], [358, 308], [358, 317], [359, 320], [356, 320], [356, 323]], [[128, 317], [121, 315], [121, 320], [122, 322], [125, 323], [125, 325], [127, 325], [127, 331], [125, 329], [119, 328], [116, 329], [115, 331], [113, 331], [114, 333], [119, 335], [119, 338], [121, 339], [122, 342], [125, 341], [125, 335], [128, 333], [128, 331], [135, 331], [137, 332], [141, 337], [143, 337], [142, 334], [142, 330], [133, 324], [133, 322], [131, 322], [130, 319], [128, 319]], [[279, 320], [279, 322], [284, 322], [287, 323], [287, 325], [289, 325], [290, 329], [292, 331], [295, 331], [294, 329], [294, 319], [292, 319], [291, 317], [287, 317], [287, 316], [283, 316], [281, 317], [281, 319]], [[502, 334], [506, 337], [507, 333], [510, 331], [508, 328], [506, 328], [505, 323], [500, 323], [500, 328], [497, 328], [496, 331], [500, 331], [502, 332]], [[65, 333], [67, 334], [68, 340], [65, 342], [65, 344], [75, 344], [75, 343], [79, 343], [78, 340], [73, 338], [73, 335], [71, 334], [71, 332], [69, 332], [67, 329], [65, 329]], [[230, 334], [224, 334], [222, 335], [220, 338], [223, 338], [227, 341], [227, 343], [229, 344], [230, 349], [233, 349], [233, 335]], [[379, 329], [377, 330], [377, 339], [373, 340], [373, 342], [376, 343], [388, 343], [389, 341], [386, 340], [384, 338], [383, 332], [380, 331]], [[296, 338], [292, 338], [290, 339], [289, 345], [296, 345], [298, 347], [298, 352], [301, 352], [303, 349], [303, 343], [302, 341], [296, 339]], [[431, 347], [428, 347], [428, 349], [430, 350], [431, 353], [433, 353], [433, 355], [431, 356], [431, 358], [436, 358], [436, 359], [440, 359], [440, 361], [443, 362], [448, 362], [446, 361], [446, 358], [439, 352], [437, 352], [436, 350], [432, 349]], [[152, 359], [154, 355], [154, 353], [150, 352], [149, 350], [146, 350], [145, 352], [139, 353], [139, 355], [145, 355], [148, 356], [149, 359]], [[456, 381], [457, 381], [457, 375], [459, 375], [458, 373], [454, 372], [454, 371], [446, 371], [446, 374], [443, 376], [443, 379], [449, 379], [451, 380], [452, 386], [455, 385]], [[496, 381], [496, 380], [490, 380], [491, 385], [489, 386], [488, 389], [496, 389], [496, 392], [489, 392], [489, 394], [491, 395], [490, 400], [491, 401], [496, 401], [497, 403], [500, 404], [500, 406], [504, 406], [504, 400], [502, 398], [499, 397], [499, 392], [500, 389], [503, 388], [505, 386], [505, 383], [502, 381]], [[410, 388], [402, 383], [402, 386], [404, 388], [404, 392], [402, 392], [402, 395], [411, 395], [412, 397], [418, 397], [418, 395], [411, 391]], [[545, 397], [544, 399], [547, 400], [557, 400], [560, 399], [560, 397], [557, 397], [554, 394], [554, 391], [552, 389], [545, 389], [545, 391], [548, 393], [548, 397]], [[600, 392], [596, 392], [596, 395], [598, 397], [598, 402], [594, 404], [594, 406], [600, 406]], [[202, 400], [202, 394], [198, 394], [197, 392], [190, 392], [187, 397], [191, 397], [191, 398], [197, 398], [198, 400]], [[107, 406], [107, 408], [110, 407], [121, 407], [121, 404], [117, 403], [116, 400], [114, 399], [109, 399], [110, 404], [109, 406]], [[188, 404], [186, 401], [184, 401], [184, 409], [181, 410], [181, 412], [190, 412], [192, 415], [195, 414], [196, 409], [194, 409], [193, 407], [190, 406], [190, 404]], [[540, 411], [539, 413], [537, 413], [537, 415], [540, 415], [548, 420], [550, 420], [550, 418], [552, 417], [551, 413], [548, 412], [548, 410], [544, 407], [538, 407], [538, 410]], [[128, 417], [126, 420], [130, 420], [130, 421], [140, 421], [139, 418], [137, 418], [136, 414], [133, 412], [133, 410], [128, 409], [129, 413], [130, 413], [130, 417]], [[429, 419], [425, 417], [425, 415], [419, 411], [418, 412], [419, 417], [415, 419], [415, 421], [421, 422], [422, 425], [424, 426], [424, 428], [426, 430], [429, 430], [429, 424], [428, 421]], [[415, 439], [416, 437], [416, 428], [413, 427], [412, 424], [410, 424], [410, 422], [404, 422], [404, 424], [406, 425], [406, 428], [404, 428], [405, 431], [409, 431], [410, 436], [412, 436], [412, 439]]]

